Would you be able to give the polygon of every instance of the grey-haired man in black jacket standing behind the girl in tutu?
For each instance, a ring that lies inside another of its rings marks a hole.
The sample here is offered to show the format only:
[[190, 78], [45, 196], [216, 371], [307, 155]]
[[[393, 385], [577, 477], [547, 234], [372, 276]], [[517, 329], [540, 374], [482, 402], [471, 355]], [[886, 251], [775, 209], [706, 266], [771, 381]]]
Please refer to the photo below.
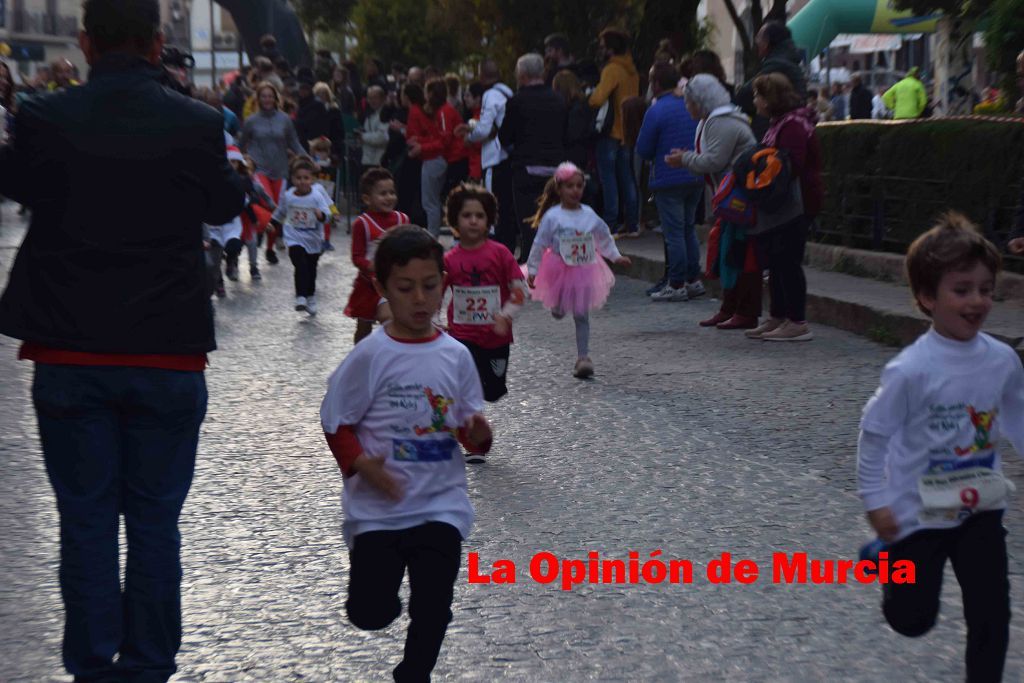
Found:
[[519, 90], [505, 104], [498, 139], [509, 153], [515, 186], [515, 215], [519, 226], [519, 262], [525, 263], [534, 246], [534, 228], [524, 220], [537, 211], [537, 198], [565, 161], [565, 102], [544, 84], [544, 57], [524, 54], [515, 65]]

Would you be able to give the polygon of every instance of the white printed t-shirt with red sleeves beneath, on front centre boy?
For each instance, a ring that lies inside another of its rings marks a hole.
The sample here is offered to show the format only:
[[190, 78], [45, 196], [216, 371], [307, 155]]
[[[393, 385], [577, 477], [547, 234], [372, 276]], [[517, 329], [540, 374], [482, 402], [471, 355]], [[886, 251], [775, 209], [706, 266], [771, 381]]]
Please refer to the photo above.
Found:
[[321, 405], [324, 431], [354, 425], [364, 453], [385, 457], [385, 470], [404, 492], [394, 502], [359, 474], [346, 477], [345, 542], [428, 521], [452, 524], [466, 538], [474, 515], [456, 431], [483, 410], [473, 356], [446, 334], [401, 342], [387, 327], [356, 344], [334, 371]]

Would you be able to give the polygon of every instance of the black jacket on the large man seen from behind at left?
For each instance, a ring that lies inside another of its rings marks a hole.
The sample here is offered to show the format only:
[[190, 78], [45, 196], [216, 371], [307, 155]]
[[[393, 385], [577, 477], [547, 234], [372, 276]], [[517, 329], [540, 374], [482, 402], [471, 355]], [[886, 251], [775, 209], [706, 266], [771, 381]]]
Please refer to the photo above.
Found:
[[203, 228], [243, 206], [223, 116], [104, 56], [86, 85], [25, 102], [0, 148], [0, 194], [32, 224], [0, 298], [0, 333], [54, 349], [216, 347]]

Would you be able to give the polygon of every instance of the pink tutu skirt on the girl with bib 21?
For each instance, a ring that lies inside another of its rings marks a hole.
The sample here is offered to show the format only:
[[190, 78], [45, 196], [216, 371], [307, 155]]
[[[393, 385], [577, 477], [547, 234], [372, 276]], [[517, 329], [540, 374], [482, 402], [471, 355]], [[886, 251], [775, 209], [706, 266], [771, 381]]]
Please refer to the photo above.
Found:
[[565, 265], [548, 249], [537, 270], [531, 296], [548, 310], [583, 315], [603, 306], [614, 284], [615, 275], [603, 258], [587, 265]]

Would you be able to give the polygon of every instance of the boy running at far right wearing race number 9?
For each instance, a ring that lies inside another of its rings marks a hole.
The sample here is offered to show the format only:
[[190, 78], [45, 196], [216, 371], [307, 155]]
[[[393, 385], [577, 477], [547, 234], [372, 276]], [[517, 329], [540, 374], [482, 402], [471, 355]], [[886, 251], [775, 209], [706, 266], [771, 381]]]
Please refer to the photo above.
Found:
[[886, 584], [882, 611], [904, 636], [936, 622], [949, 559], [964, 596], [967, 680], [998, 681], [1007, 654], [1010, 583], [1002, 512], [1012, 484], [995, 443], [1024, 453], [1024, 369], [981, 332], [1000, 258], [964, 216], [949, 213], [914, 240], [907, 278], [932, 328], [882, 373], [864, 407], [857, 454], [867, 520], [890, 562], [910, 560], [914, 584]]

